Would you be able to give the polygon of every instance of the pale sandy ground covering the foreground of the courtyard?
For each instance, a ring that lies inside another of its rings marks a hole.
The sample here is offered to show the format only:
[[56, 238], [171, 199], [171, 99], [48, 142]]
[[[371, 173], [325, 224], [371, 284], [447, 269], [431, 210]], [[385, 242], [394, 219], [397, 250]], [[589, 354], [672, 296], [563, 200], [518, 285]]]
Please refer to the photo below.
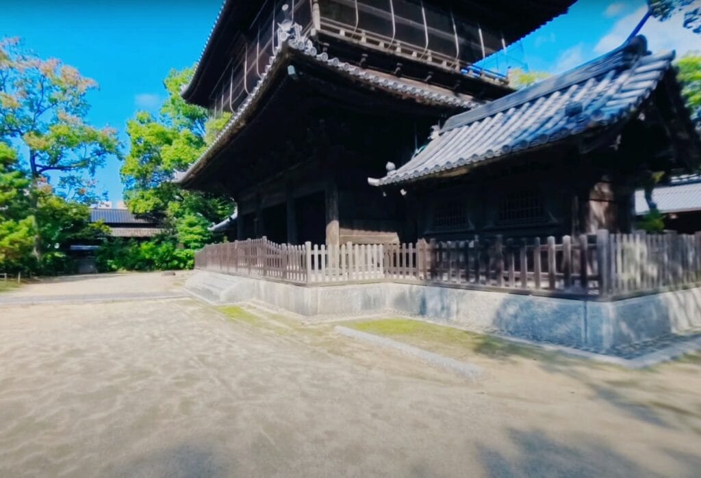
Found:
[[[90, 280], [143, 291], [178, 278]], [[698, 357], [645, 371], [468, 359], [486, 369], [480, 381], [336, 337], [331, 325], [232, 320], [190, 299], [0, 307], [0, 476], [701, 470]]]

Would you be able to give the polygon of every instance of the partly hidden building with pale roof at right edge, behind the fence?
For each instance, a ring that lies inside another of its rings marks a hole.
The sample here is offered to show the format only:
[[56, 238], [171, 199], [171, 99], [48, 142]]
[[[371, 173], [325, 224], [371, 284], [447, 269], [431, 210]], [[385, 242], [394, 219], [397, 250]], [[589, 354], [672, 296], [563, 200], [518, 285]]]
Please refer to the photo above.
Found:
[[[652, 201], [665, 215], [665, 227], [681, 233], [701, 231], [701, 174], [676, 176], [669, 184], [652, 191]], [[635, 213], [644, 216], [650, 211], [645, 191], [635, 192]]]

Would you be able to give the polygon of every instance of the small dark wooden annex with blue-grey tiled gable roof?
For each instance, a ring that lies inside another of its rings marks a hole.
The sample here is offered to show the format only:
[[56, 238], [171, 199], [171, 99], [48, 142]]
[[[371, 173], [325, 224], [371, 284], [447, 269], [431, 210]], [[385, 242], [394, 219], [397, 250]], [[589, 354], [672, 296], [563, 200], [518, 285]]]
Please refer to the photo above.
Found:
[[406, 164], [368, 181], [413, 197], [419, 237], [628, 232], [637, 184], [699, 162], [673, 59], [636, 36], [454, 115]]

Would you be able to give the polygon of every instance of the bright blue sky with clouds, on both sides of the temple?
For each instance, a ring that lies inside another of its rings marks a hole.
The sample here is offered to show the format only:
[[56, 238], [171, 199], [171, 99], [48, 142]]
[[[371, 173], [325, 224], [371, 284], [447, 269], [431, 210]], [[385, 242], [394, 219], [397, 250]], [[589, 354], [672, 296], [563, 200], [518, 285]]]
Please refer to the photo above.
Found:
[[[127, 143], [125, 122], [135, 111], [157, 111], [170, 68], [195, 63], [222, 0], [1, 0], [0, 36], [21, 36], [41, 57], [57, 57], [97, 80], [89, 120], [111, 125]], [[559, 73], [620, 45], [645, 12], [644, 0], [579, 0], [508, 50], [512, 64]], [[642, 30], [651, 50], [678, 55], [701, 50], [701, 36], [676, 16]], [[502, 57], [503, 60], [503, 57]], [[496, 63], [494, 63], [496, 66]], [[503, 63], [501, 64], [503, 66]], [[97, 180], [121, 199], [120, 163], [109, 160]]]

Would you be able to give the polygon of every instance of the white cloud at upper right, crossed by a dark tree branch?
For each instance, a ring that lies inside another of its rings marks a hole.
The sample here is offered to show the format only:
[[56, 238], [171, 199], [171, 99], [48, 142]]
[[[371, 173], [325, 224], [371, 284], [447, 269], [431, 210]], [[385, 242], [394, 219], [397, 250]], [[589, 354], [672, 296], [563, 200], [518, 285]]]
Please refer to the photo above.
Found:
[[[608, 34], [594, 46], [594, 51], [603, 54], [620, 46], [645, 15], [646, 8], [643, 6], [615, 22]], [[677, 13], [665, 22], [650, 18], [640, 33], [648, 39], [648, 49], [652, 52], [676, 50], [681, 56], [690, 50], [701, 50], [701, 35], [684, 28], [682, 22], [683, 13]]]

